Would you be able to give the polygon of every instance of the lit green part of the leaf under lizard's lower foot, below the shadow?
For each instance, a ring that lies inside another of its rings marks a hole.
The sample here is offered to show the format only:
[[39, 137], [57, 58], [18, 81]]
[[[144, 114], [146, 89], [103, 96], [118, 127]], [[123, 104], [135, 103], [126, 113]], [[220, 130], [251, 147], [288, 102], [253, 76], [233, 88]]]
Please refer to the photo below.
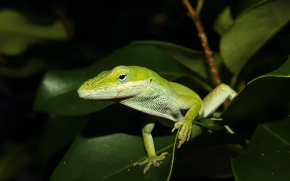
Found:
[[[157, 153], [172, 153], [172, 136], [155, 139]], [[165, 141], [165, 142], [164, 142]], [[143, 166], [133, 167], [133, 163], [145, 158], [142, 139], [116, 133], [96, 138], [78, 137], [53, 173], [51, 181], [166, 181], [170, 172], [170, 159], [162, 160], [157, 169], [153, 166], [143, 175]]]

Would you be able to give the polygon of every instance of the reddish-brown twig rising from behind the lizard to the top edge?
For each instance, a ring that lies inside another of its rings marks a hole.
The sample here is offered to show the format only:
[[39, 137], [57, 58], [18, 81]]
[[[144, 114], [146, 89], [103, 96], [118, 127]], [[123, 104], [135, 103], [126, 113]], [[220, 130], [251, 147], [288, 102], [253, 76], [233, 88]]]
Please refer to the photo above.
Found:
[[[207, 58], [208, 64], [210, 66], [211, 73], [213, 75], [213, 80], [214, 80], [216, 85], [220, 85], [221, 84], [221, 80], [220, 80], [220, 77], [218, 75], [217, 69], [216, 69], [215, 64], [214, 64], [214, 60], [213, 60], [213, 57], [212, 57], [212, 51], [211, 51], [207, 36], [205, 34], [204, 28], [203, 28], [199, 18], [195, 17], [195, 11], [192, 8], [190, 2], [188, 0], [183, 0], [183, 3], [184, 3], [184, 5], [185, 5], [185, 7], [187, 9], [187, 15], [194, 22], [194, 24], [196, 26], [198, 36], [199, 36], [199, 38], [201, 40], [201, 44], [203, 46], [203, 49], [204, 49], [204, 52], [205, 52], [205, 56]], [[227, 107], [227, 105], [229, 105], [229, 103], [230, 103], [229, 100], [226, 100], [224, 102], [224, 108]]]

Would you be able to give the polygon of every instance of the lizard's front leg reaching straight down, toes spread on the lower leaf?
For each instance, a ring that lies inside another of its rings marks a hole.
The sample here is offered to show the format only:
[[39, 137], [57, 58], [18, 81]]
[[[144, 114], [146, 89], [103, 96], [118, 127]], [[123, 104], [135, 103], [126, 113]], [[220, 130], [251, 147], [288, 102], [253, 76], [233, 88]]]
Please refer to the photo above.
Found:
[[154, 125], [155, 125], [155, 122], [150, 122], [150, 123], [147, 123], [142, 129], [143, 143], [144, 143], [144, 147], [147, 153], [147, 158], [142, 162], [136, 162], [133, 164], [133, 166], [135, 167], [136, 165], [144, 165], [147, 163], [147, 165], [143, 169], [143, 174], [146, 174], [146, 172], [150, 169], [150, 166], [152, 164], [155, 167], [159, 167], [160, 163], [158, 163], [157, 161], [160, 161], [164, 159], [165, 156], [169, 155], [167, 152], [162, 153], [160, 156], [156, 155], [154, 141], [151, 135]]

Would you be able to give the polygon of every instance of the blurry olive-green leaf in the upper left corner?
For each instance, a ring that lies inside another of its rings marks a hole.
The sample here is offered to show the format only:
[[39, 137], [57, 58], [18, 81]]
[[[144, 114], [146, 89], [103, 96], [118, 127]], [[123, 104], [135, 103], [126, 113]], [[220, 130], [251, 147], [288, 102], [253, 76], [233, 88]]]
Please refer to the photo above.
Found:
[[[35, 25], [19, 12], [11, 9], [0, 10], [0, 53], [19, 55], [29, 45], [44, 40], [67, 40], [68, 34], [60, 21], [51, 26]], [[7, 23], [8, 22], [8, 23]]]

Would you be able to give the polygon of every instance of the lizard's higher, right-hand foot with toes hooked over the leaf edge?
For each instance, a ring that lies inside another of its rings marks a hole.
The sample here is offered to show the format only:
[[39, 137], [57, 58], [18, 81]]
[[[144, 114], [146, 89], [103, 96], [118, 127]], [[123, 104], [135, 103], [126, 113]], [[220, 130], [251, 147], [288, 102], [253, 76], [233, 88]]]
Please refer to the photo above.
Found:
[[[181, 127], [182, 126], [182, 127]], [[177, 123], [174, 124], [174, 128], [172, 129], [172, 133], [175, 131], [175, 129], [178, 129], [179, 127], [181, 127], [181, 130], [178, 134], [178, 146], [177, 149], [179, 149], [181, 147], [182, 144], [185, 143], [186, 141], [189, 141], [190, 135], [191, 135], [191, 131], [192, 131], [192, 121], [188, 121], [188, 120], [181, 120]]]

